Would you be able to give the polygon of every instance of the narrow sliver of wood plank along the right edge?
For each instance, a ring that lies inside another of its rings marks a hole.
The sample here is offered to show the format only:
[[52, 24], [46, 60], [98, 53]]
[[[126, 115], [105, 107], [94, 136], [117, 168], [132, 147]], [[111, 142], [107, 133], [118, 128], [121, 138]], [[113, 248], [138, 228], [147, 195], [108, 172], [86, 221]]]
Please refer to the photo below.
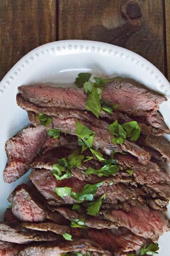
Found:
[[170, 0], [165, 0], [167, 77], [170, 81]]

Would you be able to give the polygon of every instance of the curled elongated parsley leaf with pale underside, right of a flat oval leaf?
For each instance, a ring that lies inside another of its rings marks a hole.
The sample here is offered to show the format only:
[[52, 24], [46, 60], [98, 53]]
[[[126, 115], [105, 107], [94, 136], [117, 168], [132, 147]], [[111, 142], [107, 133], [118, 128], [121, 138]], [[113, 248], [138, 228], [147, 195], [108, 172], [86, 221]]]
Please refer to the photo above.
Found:
[[84, 200], [92, 201], [93, 196], [97, 192], [98, 187], [102, 186], [102, 184], [102, 182], [95, 184], [86, 184], [81, 192], [72, 192], [71, 197], [78, 202], [82, 202]]

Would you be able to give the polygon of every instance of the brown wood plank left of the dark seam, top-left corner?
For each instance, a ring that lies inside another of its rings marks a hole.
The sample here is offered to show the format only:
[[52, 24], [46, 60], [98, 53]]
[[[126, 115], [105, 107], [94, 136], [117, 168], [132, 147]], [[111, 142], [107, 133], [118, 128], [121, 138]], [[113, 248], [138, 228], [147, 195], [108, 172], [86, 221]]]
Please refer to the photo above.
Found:
[[56, 0], [0, 0], [0, 79], [26, 53], [56, 40]]

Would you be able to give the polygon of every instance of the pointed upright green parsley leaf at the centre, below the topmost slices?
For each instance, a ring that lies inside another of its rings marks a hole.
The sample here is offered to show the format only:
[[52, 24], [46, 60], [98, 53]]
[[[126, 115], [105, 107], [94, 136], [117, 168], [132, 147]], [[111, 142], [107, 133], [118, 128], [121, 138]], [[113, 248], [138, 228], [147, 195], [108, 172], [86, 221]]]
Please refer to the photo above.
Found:
[[76, 136], [78, 145], [82, 146], [82, 152], [93, 145], [95, 133], [76, 119]]

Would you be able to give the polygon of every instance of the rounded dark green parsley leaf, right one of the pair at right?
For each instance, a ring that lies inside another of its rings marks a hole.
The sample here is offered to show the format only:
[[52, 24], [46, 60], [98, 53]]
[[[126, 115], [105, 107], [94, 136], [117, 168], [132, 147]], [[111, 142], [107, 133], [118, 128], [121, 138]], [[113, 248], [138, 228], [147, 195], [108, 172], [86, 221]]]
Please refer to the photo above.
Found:
[[140, 135], [140, 127], [136, 121], [131, 121], [128, 123], [122, 124], [122, 128], [127, 133], [127, 138], [130, 140], [137, 140]]

